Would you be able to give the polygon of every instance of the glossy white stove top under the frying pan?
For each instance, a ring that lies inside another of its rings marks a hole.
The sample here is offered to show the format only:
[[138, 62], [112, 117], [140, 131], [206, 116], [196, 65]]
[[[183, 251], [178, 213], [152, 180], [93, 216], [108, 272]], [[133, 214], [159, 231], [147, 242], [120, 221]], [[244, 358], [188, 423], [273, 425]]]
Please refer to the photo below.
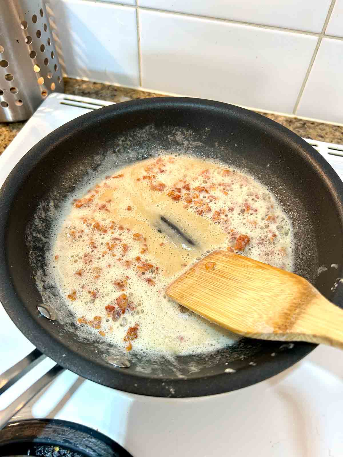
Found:
[[[0, 156], [0, 186], [19, 159], [55, 128], [109, 102], [52, 94]], [[343, 179], [343, 146], [308, 140]], [[342, 156], [342, 157], [340, 157]], [[0, 304], [0, 373], [34, 346]], [[54, 366], [43, 360], [0, 397], [5, 408]], [[122, 393], [65, 371], [14, 419], [57, 418], [97, 429], [134, 457], [341, 457], [343, 356], [317, 347], [278, 376], [193, 399]]]

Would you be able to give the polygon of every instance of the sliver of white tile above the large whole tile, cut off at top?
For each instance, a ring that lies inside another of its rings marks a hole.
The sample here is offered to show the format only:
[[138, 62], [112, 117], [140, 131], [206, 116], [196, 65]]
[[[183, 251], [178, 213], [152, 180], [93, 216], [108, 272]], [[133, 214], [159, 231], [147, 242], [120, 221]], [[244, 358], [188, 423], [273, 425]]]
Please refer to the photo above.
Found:
[[321, 32], [331, 0], [139, 0], [139, 6]]

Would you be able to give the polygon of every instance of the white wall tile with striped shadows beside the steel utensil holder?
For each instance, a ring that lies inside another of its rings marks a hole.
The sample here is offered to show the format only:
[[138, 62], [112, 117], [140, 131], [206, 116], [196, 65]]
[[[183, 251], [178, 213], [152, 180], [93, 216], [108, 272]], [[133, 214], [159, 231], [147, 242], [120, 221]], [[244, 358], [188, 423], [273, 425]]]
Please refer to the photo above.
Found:
[[83, 0], [50, 0], [66, 74], [139, 85], [136, 11]]

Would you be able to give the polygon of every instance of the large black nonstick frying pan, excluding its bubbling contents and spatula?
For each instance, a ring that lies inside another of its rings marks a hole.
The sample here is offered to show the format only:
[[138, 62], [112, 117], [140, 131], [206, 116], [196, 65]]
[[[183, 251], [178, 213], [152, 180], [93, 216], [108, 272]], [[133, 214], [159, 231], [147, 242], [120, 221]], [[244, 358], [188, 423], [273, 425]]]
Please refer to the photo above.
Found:
[[[125, 165], [160, 149], [221, 159], [267, 184], [293, 221], [295, 272], [325, 297], [343, 304], [340, 288], [331, 291], [343, 265], [343, 186], [331, 166], [305, 141], [266, 117], [224, 103], [171, 97], [129, 101], [78, 117], [40, 141], [16, 165], [0, 191], [0, 299], [7, 313], [61, 366], [132, 393], [223, 393], [290, 367], [315, 345], [295, 343], [291, 348], [245, 339], [211, 356], [157, 363], [130, 354], [131, 367], [113, 367], [107, 362], [113, 348], [87, 340], [71, 317], [66, 326], [38, 313], [42, 297], [34, 276], [44, 268], [52, 202], [58, 207], [89, 170], [101, 169], [105, 158], [112, 165]], [[338, 264], [339, 270], [331, 264]], [[323, 265], [328, 268], [318, 276]], [[59, 315], [59, 293], [47, 292]], [[236, 372], [227, 374], [225, 368]]]

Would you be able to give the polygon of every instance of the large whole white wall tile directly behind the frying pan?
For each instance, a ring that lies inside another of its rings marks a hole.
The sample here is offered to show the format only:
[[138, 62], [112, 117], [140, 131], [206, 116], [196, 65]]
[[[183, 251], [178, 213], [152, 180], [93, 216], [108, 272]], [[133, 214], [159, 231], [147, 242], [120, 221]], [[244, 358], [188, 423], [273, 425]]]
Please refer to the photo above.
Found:
[[142, 85], [292, 112], [316, 37], [140, 11]]

